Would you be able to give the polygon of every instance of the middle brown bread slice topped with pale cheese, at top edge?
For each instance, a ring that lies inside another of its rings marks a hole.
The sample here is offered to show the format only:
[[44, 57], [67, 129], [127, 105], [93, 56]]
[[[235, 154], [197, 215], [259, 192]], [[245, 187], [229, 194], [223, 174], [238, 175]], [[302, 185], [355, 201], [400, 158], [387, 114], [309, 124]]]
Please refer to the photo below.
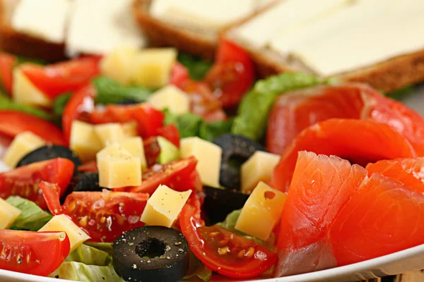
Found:
[[221, 33], [275, 0], [135, 0], [134, 15], [151, 44], [213, 59]]

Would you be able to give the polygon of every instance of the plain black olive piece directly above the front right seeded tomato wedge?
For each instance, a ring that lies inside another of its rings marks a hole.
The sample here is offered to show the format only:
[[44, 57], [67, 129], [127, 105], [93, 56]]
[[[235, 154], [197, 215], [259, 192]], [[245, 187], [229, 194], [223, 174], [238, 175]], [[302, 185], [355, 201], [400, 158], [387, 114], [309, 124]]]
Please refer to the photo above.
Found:
[[208, 225], [224, 221], [230, 212], [241, 209], [249, 195], [237, 190], [228, 190], [204, 186], [203, 211]]

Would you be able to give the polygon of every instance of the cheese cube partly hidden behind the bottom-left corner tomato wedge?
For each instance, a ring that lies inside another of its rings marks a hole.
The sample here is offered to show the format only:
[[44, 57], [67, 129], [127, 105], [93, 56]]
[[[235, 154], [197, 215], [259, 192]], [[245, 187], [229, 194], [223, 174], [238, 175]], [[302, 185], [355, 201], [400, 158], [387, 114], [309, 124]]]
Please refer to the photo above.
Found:
[[64, 214], [59, 214], [53, 216], [49, 222], [38, 232], [45, 231], [64, 231], [68, 235], [69, 241], [71, 243], [71, 251], [75, 250], [77, 247], [81, 246], [86, 240], [90, 239], [90, 236], [85, 233], [81, 228], [79, 228], [68, 216]]

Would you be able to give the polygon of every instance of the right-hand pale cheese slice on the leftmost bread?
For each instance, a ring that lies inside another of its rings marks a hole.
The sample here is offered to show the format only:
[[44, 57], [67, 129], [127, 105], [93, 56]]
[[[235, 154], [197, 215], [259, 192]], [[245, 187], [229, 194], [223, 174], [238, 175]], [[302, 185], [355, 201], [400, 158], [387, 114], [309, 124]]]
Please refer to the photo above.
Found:
[[[146, 42], [132, 16], [133, 0], [73, 0], [66, 51], [108, 54], [119, 46], [143, 47]], [[95, 12], [94, 12], [95, 11]]]

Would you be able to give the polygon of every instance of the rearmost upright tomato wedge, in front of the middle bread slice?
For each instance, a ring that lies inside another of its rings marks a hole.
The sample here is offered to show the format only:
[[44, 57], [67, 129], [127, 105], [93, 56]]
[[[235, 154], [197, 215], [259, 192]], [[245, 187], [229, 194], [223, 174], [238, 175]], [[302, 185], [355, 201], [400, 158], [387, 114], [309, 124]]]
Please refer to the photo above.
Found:
[[218, 46], [214, 66], [205, 82], [224, 108], [237, 106], [254, 83], [254, 65], [249, 54], [238, 45], [223, 40]]

